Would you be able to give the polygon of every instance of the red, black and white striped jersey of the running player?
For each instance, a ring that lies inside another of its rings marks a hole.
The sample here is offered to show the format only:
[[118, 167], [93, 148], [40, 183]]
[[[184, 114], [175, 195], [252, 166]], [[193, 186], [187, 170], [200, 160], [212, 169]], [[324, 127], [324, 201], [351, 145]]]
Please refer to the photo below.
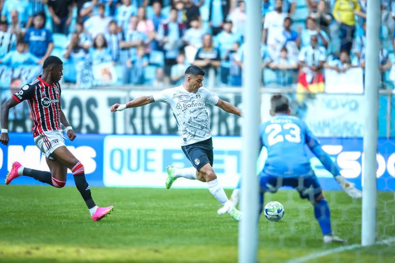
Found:
[[61, 129], [60, 123], [60, 84], [48, 84], [41, 75], [33, 82], [23, 86], [12, 95], [17, 102], [27, 100], [31, 110], [33, 137], [47, 130]]

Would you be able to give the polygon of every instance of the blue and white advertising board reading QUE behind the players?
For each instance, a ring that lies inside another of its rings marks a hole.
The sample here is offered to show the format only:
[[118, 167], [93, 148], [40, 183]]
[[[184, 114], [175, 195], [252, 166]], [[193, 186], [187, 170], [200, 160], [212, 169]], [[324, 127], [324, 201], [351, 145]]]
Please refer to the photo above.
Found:
[[[321, 138], [322, 148], [340, 168], [340, 173], [362, 187], [363, 140]], [[87, 180], [92, 186], [165, 187], [166, 166], [190, 167], [184, 156], [178, 136], [103, 136], [77, 134], [76, 140], [66, 140], [66, 145], [85, 166]], [[213, 137], [214, 171], [221, 185], [233, 188], [241, 176], [241, 138]], [[380, 191], [395, 191], [395, 139], [379, 139], [378, 171], [376, 174]], [[313, 170], [324, 190], [338, 190], [332, 175], [311, 153]], [[257, 164], [260, 171], [265, 159], [262, 151]], [[34, 145], [30, 134], [10, 134], [8, 147], [0, 145], [0, 173], [5, 175], [12, 162], [49, 171], [45, 157]], [[286, 160], [285, 160], [286, 161]], [[70, 171], [69, 171], [70, 172]], [[0, 180], [4, 184], [4, 180]], [[29, 177], [15, 179], [12, 184], [42, 184]], [[74, 180], [69, 173], [68, 185]], [[10, 186], [12, 187], [12, 186]], [[177, 179], [172, 187], [207, 187], [196, 180]]]

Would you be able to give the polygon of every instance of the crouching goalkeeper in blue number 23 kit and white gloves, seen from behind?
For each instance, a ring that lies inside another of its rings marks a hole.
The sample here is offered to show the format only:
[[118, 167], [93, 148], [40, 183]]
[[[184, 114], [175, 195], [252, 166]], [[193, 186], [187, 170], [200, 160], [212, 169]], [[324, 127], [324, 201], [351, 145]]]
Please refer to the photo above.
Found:
[[[308, 199], [313, 204], [314, 216], [324, 235], [324, 242], [345, 242], [332, 234], [328, 202], [311, 168], [306, 145], [349, 196], [361, 198], [362, 192], [340, 175], [339, 169], [322, 150], [318, 139], [306, 123], [290, 116], [289, 101], [285, 96], [272, 96], [270, 113], [272, 118], [260, 125], [260, 142], [261, 146], [267, 148], [267, 159], [259, 174], [259, 213], [262, 213], [265, 192], [275, 193], [281, 186], [292, 186], [301, 198]], [[240, 182], [218, 213], [223, 214], [234, 208], [239, 200], [239, 193]]]

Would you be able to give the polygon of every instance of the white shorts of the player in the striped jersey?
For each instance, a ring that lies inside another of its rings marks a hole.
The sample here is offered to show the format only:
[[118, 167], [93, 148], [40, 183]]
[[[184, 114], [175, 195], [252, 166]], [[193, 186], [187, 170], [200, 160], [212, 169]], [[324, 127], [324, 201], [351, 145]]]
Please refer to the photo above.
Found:
[[39, 147], [40, 151], [50, 160], [53, 159], [50, 155], [60, 146], [64, 144], [64, 137], [61, 130], [49, 130], [34, 138], [34, 143]]

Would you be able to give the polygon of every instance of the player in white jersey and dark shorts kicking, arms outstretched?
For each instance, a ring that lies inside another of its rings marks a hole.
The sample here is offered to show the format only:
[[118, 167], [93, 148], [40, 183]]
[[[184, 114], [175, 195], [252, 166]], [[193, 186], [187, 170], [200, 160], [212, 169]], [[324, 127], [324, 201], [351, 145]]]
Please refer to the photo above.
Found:
[[[217, 180], [212, 168], [213, 152], [206, 103], [241, 116], [241, 111], [234, 105], [221, 100], [210, 90], [203, 87], [204, 70], [197, 66], [189, 66], [185, 70], [185, 81], [178, 87], [164, 89], [152, 96], [142, 96], [126, 104], [114, 104], [111, 111], [122, 111], [125, 108], [139, 107], [153, 102], [170, 104], [177, 121], [178, 133], [182, 139], [182, 149], [193, 167], [177, 169], [167, 167], [168, 178], [166, 188], [179, 177], [207, 182], [210, 193], [224, 205], [228, 198]], [[241, 213], [235, 208], [227, 211], [234, 219], [240, 220]]]

